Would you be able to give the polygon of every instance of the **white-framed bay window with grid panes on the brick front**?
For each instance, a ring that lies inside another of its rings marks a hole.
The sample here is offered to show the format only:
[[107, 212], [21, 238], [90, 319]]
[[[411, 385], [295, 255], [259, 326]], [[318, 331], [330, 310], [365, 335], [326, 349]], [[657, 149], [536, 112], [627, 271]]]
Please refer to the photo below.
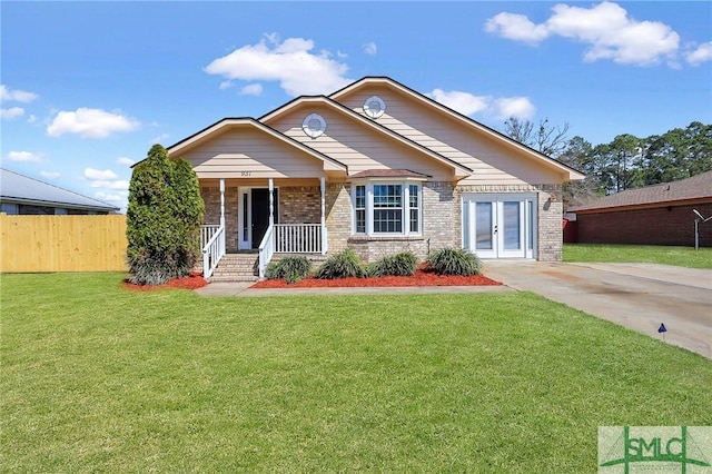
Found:
[[421, 234], [421, 190], [419, 184], [355, 185], [354, 231], [365, 235]]

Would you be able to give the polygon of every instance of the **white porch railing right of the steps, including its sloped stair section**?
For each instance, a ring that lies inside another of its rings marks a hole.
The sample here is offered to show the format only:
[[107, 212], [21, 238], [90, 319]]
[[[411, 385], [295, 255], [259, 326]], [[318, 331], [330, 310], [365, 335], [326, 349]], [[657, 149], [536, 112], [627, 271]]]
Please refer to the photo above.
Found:
[[259, 277], [274, 254], [326, 254], [327, 231], [320, 224], [273, 224], [259, 244]]

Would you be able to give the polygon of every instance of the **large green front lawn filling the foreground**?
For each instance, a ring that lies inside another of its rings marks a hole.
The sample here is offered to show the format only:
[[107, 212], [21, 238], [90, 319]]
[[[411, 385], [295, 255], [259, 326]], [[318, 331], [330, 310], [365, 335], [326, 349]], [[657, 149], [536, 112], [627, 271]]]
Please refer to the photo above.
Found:
[[2, 275], [3, 472], [593, 472], [712, 362], [528, 293], [200, 298]]

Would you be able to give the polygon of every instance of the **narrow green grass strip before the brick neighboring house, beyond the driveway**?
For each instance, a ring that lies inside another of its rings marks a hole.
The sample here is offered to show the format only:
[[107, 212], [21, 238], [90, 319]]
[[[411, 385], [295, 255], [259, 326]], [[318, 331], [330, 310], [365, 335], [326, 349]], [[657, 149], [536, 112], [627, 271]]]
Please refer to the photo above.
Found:
[[712, 248], [652, 245], [564, 244], [563, 260], [571, 263], [662, 264], [712, 268]]

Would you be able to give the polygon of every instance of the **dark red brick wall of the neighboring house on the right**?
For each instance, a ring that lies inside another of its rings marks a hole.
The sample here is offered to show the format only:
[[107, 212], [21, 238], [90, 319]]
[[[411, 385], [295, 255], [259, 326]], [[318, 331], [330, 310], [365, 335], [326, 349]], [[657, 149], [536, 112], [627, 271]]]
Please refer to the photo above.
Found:
[[[712, 203], [639, 208], [612, 213], [578, 213], [581, 244], [694, 246], [694, 214], [712, 215]], [[700, 223], [700, 246], [712, 247], [712, 221]]]

